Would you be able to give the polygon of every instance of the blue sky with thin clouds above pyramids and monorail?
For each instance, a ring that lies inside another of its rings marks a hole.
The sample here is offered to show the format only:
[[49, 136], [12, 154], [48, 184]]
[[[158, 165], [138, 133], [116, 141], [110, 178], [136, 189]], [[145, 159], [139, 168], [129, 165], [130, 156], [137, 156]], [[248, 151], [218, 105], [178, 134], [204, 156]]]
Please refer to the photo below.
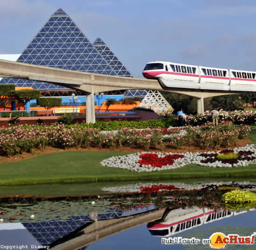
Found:
[[0, 0], [0, 53], [21, 53], [58, 8], [135, 77], [152, 60], [256, 71], [255, 0]]

